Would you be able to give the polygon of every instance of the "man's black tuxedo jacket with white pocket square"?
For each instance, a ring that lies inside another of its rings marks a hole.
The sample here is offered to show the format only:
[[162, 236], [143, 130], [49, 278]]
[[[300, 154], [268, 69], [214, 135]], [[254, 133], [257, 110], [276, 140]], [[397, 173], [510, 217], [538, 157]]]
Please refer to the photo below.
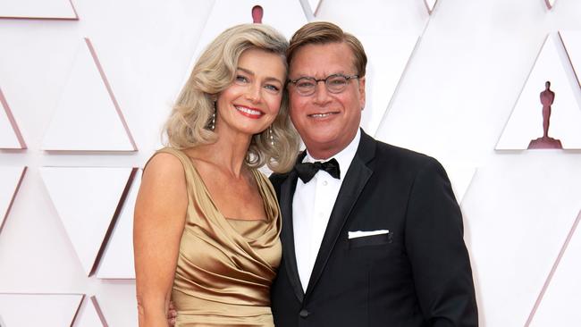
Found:
[[[271, 289], [276, 327], [477, 325], [462, 216], [434, 158], [361, 133], [306, 292], [292, 228], [297, 179], [295, 171], [271, 176], [283, 219]], [[377, 230], [389, 233], [348, 238]]]

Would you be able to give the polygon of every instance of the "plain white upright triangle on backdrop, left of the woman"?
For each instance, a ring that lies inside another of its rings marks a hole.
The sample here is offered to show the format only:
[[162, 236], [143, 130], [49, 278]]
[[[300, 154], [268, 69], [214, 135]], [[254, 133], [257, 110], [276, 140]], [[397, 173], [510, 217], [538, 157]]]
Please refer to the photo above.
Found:
[[137, 151], [113, 89], [88, 38], [80, 44], [42, 149]]

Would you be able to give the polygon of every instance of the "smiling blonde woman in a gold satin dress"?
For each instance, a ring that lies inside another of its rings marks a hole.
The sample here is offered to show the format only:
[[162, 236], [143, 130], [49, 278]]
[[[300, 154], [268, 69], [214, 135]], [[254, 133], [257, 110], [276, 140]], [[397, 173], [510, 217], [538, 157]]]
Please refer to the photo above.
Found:
[[288, 42], [248, 24], [199, 57], [147, 163], [135, 207], [139, 326], [273, 326], [281, 260], [274, 189], [257, 167], [290, 170], [298, 137], [284, 92]]

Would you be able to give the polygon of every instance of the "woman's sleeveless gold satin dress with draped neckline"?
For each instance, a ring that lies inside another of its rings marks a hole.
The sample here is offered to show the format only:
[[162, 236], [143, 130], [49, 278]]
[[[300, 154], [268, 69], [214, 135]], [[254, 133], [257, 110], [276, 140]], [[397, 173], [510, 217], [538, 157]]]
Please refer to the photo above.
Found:
[[281, 262], [282, 222], [272, 184], [252, 170], [266, 221], [226, 218], [188, 155], [169, 147], [158, 152], [181, 160], [189, 198], [172, 289], [175, 327], [274, 326], [270, 287]]

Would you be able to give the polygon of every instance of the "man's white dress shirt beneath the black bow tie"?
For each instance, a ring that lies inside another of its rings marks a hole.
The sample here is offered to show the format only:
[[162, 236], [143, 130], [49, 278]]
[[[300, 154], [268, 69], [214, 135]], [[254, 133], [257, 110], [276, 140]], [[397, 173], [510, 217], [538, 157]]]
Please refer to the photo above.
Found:
[[[324, 171], [316, 172], [315, 177], [307, 183], [303, 183], [300, 179], [297, 180], [297, 188], [294, 197], [292, 197], [292, 227], [297, 268], [304, 291], [307, 291], [308, 280], [311, 277], [316, 256], [323, 241], [324, 231], [335, 205], [335, 199], [345, 179], [345, 173], [349, 170], [349, 165], [357, 152], [359, 138], [361, 138], [360, 130], [351, 140], [349, 146], [332, 157], [339, 163], [341, 172], [339, 180]], [[321, 160], [314, 159], [307, 151], [303, 163], [315, 163], [316, 161]]]

